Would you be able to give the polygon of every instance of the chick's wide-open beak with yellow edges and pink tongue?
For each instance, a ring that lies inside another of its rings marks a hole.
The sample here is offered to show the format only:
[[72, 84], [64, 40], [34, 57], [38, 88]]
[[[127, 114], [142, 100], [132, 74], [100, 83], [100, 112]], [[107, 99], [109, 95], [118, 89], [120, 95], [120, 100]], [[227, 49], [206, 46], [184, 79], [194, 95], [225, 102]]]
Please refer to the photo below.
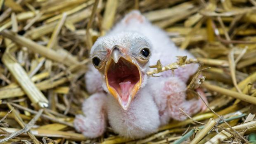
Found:
[[107, 61], [105, 75], [109, 92], [127, 110], [141, 85], [139, 66], [119, 49], [114, 49]]

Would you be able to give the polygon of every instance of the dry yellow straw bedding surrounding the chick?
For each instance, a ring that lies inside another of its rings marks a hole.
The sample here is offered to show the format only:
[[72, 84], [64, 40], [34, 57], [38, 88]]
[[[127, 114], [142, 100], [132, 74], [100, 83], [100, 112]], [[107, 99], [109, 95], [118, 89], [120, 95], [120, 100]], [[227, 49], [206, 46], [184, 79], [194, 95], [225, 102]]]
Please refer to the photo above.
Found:
[[[104, 136], [87, 139], [72, 121], [89, 96], [83, 77], [88, 51], [131, 9], [140, 9], [197, 57], [180, 57], [167, 67], [158, 62], [149, 74], [201, 62], [206, 80], [192, 79], [188, 94], [204, 87], [209, 109], [172, 121], [145, 139], [118, 137], [110, 127]], [[0, 0], [0, 12], [0, 142], [240, 144], [256, 139], [255, 0]]]

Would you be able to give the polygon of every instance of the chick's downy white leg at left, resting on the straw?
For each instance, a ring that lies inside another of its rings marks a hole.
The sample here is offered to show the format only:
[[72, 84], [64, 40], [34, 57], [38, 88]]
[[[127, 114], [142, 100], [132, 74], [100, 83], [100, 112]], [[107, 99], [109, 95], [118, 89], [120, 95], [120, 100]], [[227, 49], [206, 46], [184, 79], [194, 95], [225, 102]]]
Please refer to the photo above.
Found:
[[83, 102], [84, 115], [77, 115], [74, 126], [85, 137], [99, 137], [106, 129], [106, 94], [103, 92], [92, 94]]

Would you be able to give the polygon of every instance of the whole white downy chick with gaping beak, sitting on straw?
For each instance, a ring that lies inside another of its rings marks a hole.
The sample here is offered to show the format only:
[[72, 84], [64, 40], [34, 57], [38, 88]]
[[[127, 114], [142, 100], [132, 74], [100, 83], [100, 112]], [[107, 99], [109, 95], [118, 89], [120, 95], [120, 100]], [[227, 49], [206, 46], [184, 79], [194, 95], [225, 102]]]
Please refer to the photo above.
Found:
[[200, 99], [186, 100], [186, 82], [197, 71], [189, 64], [161, 77], [149, 77], [149, 65], [163, 65], [176, 56], [193, 58], [179, 50], [160, 28], [140, 12], [127, 14], [107, 35], [97, 39], [90, 51], [93, 66], [85, 75], [91, 96], [83, 103], [84, 115], [74, 126], [86, 137], [101, 136], [107, 124], [123, 137], [142, 138], [158, 130], [171, 118], [185, 120], [205, 106]]

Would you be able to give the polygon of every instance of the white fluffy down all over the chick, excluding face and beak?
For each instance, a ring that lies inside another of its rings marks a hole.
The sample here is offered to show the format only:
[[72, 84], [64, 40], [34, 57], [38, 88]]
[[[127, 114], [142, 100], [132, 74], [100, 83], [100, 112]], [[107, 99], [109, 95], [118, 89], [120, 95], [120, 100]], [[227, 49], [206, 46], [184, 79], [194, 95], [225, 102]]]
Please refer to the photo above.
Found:
[[201, 100], [187, 101], [185, 94], [186, 82], [197, 71], [197, 64], [178, 68], [175, 76], [171, 71], [161, 73], [162, 77], [158, 78], [145, 75], [148, 65], [156, 64], [158, 59], [166, 65], [175, 62], [176, 56], [193, 56], [178, 49], [164, 31], [153, 26], [138, 11], [127, 14], [106, 36], [99, 38], [90, 54], [92, 56], [100, 52], [107, 55], [107, 51], [114, 45], [135, 47], [138, 42], [147, 43], [151, 47], [152, 56], [142, 68], [142, 85], [126, 111], [114, 97], [103, 92], [108, 92], [104, 75], [93, 67], [86, 73], [87, 90], [92, 95], [83, 104], [85, 116], [78, 115], [74, 121], [76, 130], [83, 132], [86, 137], [102, 135], [107, 120], [121, 136], [145, 137], [156, 132], [160, 125], [165, 125], [171, 118], [184, 120], [186, 117], [179, 113], [180, 108], [190, 115], [204, 109]]

